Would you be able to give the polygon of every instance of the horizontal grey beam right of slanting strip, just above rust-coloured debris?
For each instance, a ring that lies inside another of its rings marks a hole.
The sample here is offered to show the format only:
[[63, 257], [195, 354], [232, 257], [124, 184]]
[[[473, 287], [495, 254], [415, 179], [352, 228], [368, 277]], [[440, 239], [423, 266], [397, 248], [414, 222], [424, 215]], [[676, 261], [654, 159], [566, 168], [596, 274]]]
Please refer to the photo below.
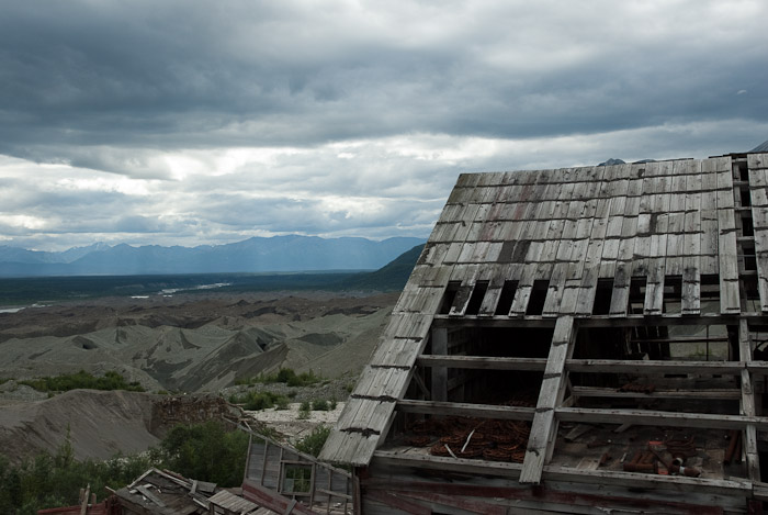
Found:
[[763, 416], [589, 407], [558, 407], [555, 410], [555, 414], [563, 422], [701, 427], [710, 429], [743, 429], [747, 424], [754, 424], [760, 430], [768, 429], [768, 417]]

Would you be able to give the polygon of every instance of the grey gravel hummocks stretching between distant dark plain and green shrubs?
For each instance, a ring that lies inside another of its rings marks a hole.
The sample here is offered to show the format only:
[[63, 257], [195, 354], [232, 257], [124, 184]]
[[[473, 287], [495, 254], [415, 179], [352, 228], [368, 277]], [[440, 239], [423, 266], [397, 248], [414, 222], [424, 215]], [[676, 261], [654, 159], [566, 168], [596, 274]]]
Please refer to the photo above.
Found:
[[0, 314], [0, 378], [121, 372], [148, 391], [217, 392], [280, 367], [324, 378], [368, 361], [397, 294], [153, 295]]

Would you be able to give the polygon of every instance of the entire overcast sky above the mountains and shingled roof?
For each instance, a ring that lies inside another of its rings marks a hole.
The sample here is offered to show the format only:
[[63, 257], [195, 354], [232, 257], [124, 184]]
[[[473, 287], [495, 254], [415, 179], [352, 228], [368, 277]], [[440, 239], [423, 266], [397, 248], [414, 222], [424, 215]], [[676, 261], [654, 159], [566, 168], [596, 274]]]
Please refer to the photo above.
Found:
[[426, 238], [461, 172], [768, 139], [765, 0], [0, 7], [0, 245]]

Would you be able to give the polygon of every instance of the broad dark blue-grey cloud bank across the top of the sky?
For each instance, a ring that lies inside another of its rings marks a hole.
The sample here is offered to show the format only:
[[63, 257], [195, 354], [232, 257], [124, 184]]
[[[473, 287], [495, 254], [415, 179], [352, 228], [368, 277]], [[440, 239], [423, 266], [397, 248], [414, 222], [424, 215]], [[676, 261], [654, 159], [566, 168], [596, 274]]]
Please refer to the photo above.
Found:
[[708, 18], [722, 2], [7, 3], [0, 149], [97, 169], [125, 170], [58, 145], [520, 138], [768, 109], [759, 40]]

